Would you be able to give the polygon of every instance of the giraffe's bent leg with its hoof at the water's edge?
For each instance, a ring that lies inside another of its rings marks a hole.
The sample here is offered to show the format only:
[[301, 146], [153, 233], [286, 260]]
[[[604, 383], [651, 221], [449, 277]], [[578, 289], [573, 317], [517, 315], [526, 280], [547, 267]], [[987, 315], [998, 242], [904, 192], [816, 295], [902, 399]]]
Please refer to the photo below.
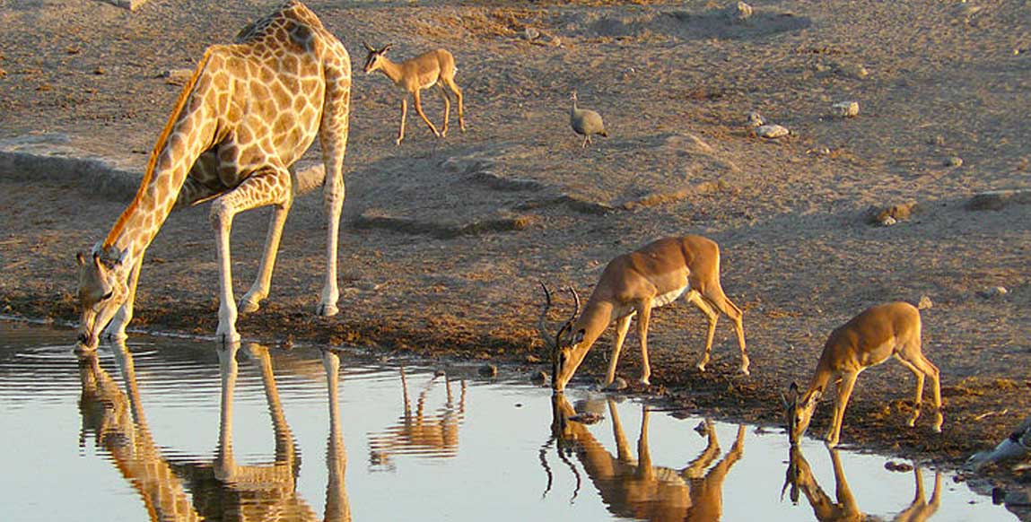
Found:
[[244, 210], [265, 205], [284, 205], [291, 198], [290, 172], [282, 166], [267, 166], [243, 180], [236, 188], [211, 203], [211, 227], [219, 251], [220, 303], [215, 336], [225, 343], [240, 340], [236, 332], [236, 303], [233, 300], [232, 258], [229, 234], [233, 217]]

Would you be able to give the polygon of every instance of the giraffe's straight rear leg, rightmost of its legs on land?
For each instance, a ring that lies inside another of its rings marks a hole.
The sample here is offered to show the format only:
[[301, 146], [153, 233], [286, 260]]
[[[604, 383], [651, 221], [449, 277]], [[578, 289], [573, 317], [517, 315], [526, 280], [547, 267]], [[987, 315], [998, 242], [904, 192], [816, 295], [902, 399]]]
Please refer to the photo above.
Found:
[[[323, 208], [326, 211], [326, 282], [319, 302], [319, 315], [336, 315], [340, 297], [336, 283], [336, 264], [340, 236], [340, 211], [345, 195], [343, 186], [343, 154], [347, 148], [348, 112], [351, 110], [351, 66], [326, 65], [326, 100], [323, 102], [319, 142], [323, 149], [326, 179], [323, 182]], [[404, 133], [404, 118], [401, 121]], [[400, 138], [398, 139], [400, 143]]]

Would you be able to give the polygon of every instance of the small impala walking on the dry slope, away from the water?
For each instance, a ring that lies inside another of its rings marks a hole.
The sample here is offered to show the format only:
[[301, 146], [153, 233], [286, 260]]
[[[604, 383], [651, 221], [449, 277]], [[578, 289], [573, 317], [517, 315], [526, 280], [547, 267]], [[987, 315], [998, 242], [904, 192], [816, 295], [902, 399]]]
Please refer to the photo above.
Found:
[[[447, 89], [455, 94], [455, 98], [458, 100], [458, 123], [462, 132], [465, 132], [462, 90], [458, 83], [455, 83], [455, 57], [451, 53], [445, 49], [436, 49], [404, 62], [395, 63], [387, 58], [387, 51], [390, 50], [392, 44], [388, 43], [379, 49], [365, 42], [362, 42], [362, 45], [365, 45], [366, 50], [369, 51], [368, 56], [365, 57], [365, 74], [371, 74], [377, 70], [383, 71], [395, 85], [410, 94], [415, 100], [415, 112], [422, 116], [426, 125], [430, 126], [430, 131], [438, 138], [447, 135], [447, 118], [451, 114], [451, 99], [447, 97], [447, 91], [444, 90], [444, 85], [447, 85]], [[440, 96], [444, 99], [444, 125], [440, 132], [437, 132], [437, 128], [423, 112], [422, 97], [420, 96], [420, 91], [430, 89], [433, 85], [440, 89]], [[407, 115], [408, 99], [405, 97], [401, 98], [401, 131], [398, 133], [396, 141], [398, 145], [404, 139], [404, 119]]]

